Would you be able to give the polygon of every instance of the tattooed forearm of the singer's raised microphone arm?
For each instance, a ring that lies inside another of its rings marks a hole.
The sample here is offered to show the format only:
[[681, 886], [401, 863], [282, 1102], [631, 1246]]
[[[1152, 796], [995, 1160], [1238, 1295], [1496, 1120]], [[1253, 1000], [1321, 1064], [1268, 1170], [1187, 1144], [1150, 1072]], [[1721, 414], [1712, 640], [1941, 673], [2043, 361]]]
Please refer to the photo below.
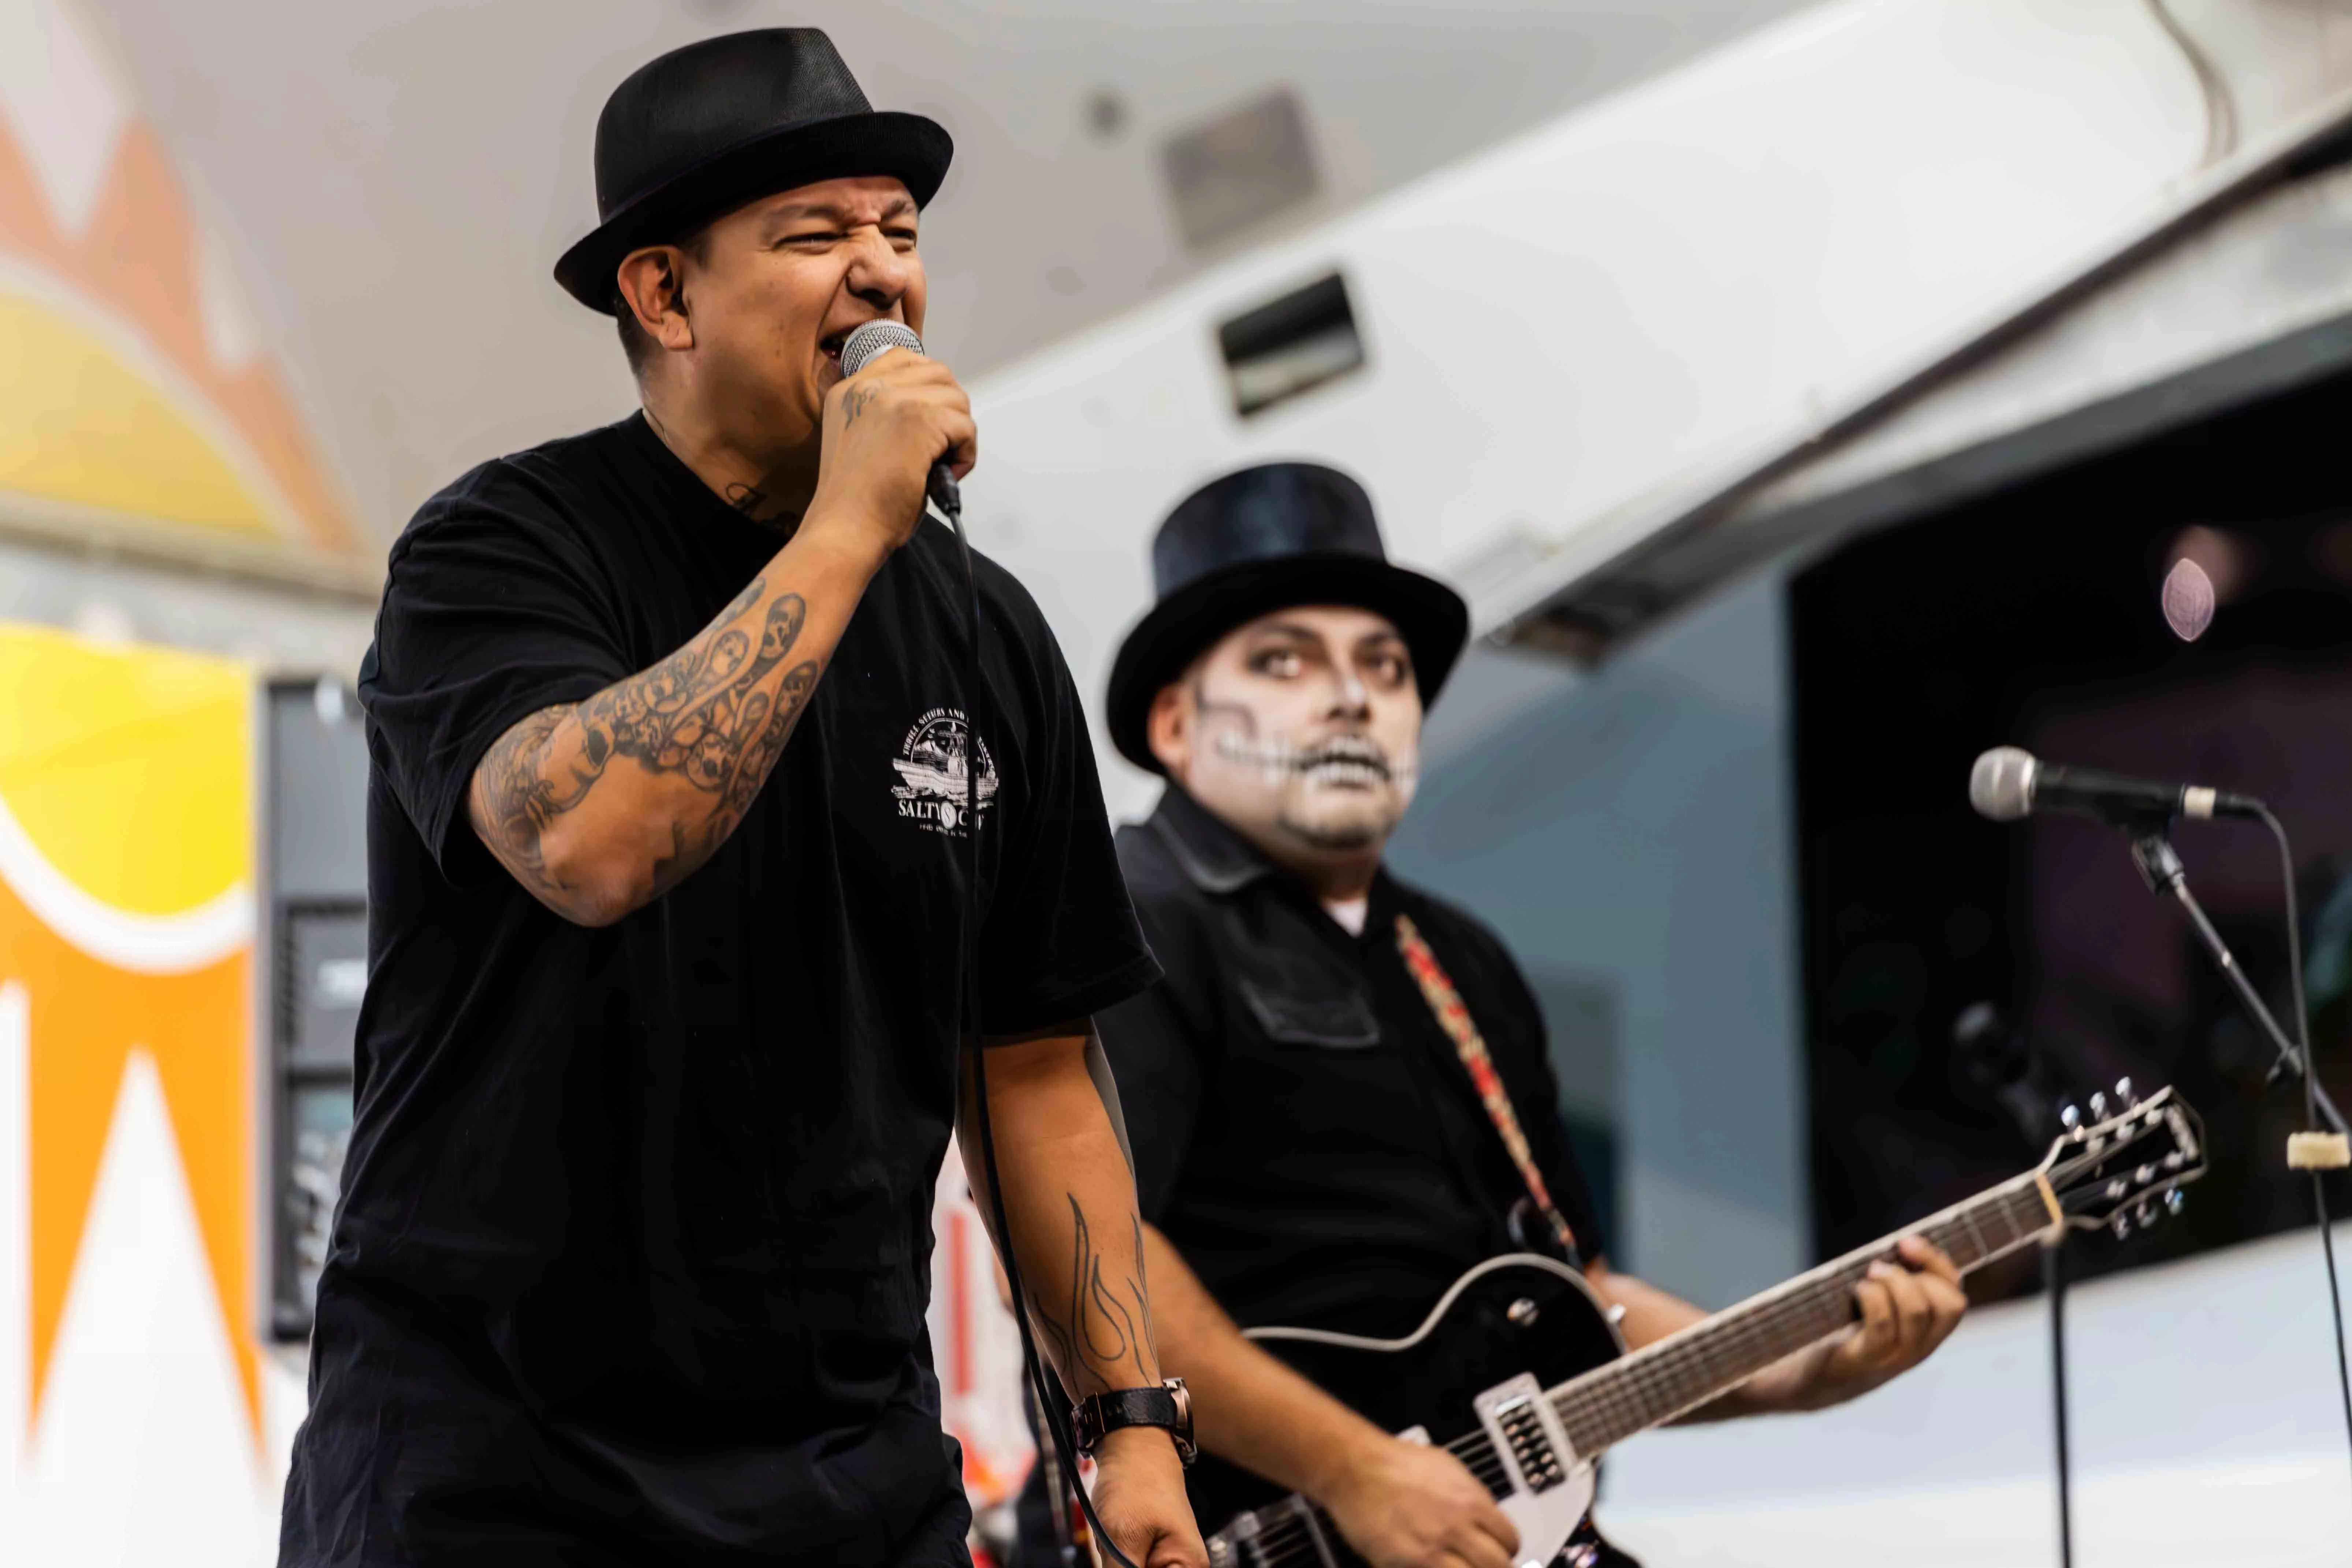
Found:
[[[764, 609], [762, 609], [764, 607]], [[644, 872], [656, 898], [708, 860], [783, 755], [821, 663], [793, 661], [809, 607], [753, 581], [694, 642], [581, 703], [546, 708], [506, 731], [473, 776], [485, 844], [562, 912], [564, 877], [548, 865], [557, 820], [579, 811], [616, 757], [689, 788], [668, 811], [670, 849]]]

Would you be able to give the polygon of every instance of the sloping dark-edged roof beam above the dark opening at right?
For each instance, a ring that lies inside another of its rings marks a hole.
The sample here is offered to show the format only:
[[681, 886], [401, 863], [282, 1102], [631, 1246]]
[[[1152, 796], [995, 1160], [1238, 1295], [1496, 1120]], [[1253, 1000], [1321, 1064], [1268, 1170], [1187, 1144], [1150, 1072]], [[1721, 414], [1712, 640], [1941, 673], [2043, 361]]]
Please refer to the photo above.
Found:
[[2331, 172], [2347, 148], [2352, 89], [2183, 181], [2091, 263], [1849, 407], [1599, 520], [1531, 574], [1494, 639], [1592, 663], [1795, 545], [2352, 362], [2345, 249], [2232, 292], [2314, 228], [2352, 235], [2352, 176]]

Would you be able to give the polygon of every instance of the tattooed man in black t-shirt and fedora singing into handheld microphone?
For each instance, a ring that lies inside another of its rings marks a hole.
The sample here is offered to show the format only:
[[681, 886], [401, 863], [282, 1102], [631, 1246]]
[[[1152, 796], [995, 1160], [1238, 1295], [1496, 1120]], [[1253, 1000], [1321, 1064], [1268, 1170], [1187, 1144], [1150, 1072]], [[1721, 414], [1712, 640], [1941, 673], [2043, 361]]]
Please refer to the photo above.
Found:
[[1157, 966], [1080, 701], [988, 562], [960, 656], [922, 517], [976, 456], [962, 388], [840, 367], [863, 322], [922, 329], [948, 155], [816, 31], [637, 71], [557, 280], [619, 317], [642, 414], [477, 468], [393, 548], [282, 1563], [967, 1561], [924, 1302], [974, 832], [1000, 1246], [1075, 1394], [1148, 1392], [1094, 1446], [1112, 1542], [1204, 1561], [1087, 1065]]

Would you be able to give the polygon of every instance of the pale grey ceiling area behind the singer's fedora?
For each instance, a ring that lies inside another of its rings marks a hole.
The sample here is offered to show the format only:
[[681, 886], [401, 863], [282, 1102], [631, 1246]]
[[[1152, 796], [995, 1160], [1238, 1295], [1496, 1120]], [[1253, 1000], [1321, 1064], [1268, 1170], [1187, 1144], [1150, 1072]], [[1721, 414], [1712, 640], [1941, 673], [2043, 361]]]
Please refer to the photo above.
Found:
[[[16, 0], [0, 0], [5, 16]], [[593, 221], [604, 94], [708, 33], [816, 24], [957, 167], [924, 233], [964, 374], [1207, 261], [1653, 75], [1802, 0], [82, 0], [221, 235], [252, 331], [372, 529], [485, 456], [633, 402], [602, 317], [548, 280]], [[1289, 87], [1317, 195], [1211, 254], [1160, 148]], [[1108, 129], [1105, 129], [1108, 127]]]

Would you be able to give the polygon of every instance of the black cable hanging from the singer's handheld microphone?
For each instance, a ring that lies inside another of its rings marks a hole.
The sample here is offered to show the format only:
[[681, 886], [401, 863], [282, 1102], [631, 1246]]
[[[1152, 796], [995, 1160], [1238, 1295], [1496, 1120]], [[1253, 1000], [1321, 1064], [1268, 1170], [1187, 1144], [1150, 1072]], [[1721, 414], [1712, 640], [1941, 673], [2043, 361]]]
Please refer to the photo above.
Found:
[[[1070, 1406], [1056, 1399], [1054, 1387], [1044, 1378], [1044, 1363], [1037, 1359], [1037, 1338], [1030, 1333], [1028, 1321], [1028, 1291], [1021, 1286], [1021, 1262], [1014, 1258], [1014, 1232], [1004, 1215], [1004, 1182], [997, 1178], [997, 1131], [988, 1117], [988, 1041], [981, 1039], [978, 804], [983, 755], [981, 715], [985, 712], [988, 698], [988, 672], [981, 668], [981, 578], [971, 564], [971, 536], [964, 534], [964, 501], [946, 468], [934, 470], [931, 505], [946, 515], [964, 562], [964, 917], [962, 936], [957, 940], [962, 966], [962, 983], [957, 990], [962, 992], [964, 1027], [957, 1034], [960, 1044], [971, 1051], [974, 1121], [981, 1128], [981, 1171], [988, 1175], [988, 1213], [997, 1229], [997, 1253], [1004, 1262], [1004, 1284], [1014, 1298], [1014, 1328], [1021, 1333], [1021, 1375], [1037, 1396], [1037, 1415], [1044, 1427], [1044, 1441], [1054, 1446], [1054, 1458], [1070, 1486], [1070, 1495], [1077, 1500], [1077, 1512], [1087, 1519], [1087, 1533], [1094, 1537], [1094, 1549], [1115, 1563], [1115, 1568], [1138, 1568], [1131, 1556], [1120, 1552], [1117, 1542], [1110, 1540], [1110, 1533], [1103, 1530], [1103, 1521], [1094, 1512], [1094, 1497], [1087, 1495], [1087, 1486], [1077, 1479], [1077, 1434], [1070, 1429]], [[1063, 1507], [1058, 1497], [1051, 1497], [1051, 1505], [1054, 1509]]]

